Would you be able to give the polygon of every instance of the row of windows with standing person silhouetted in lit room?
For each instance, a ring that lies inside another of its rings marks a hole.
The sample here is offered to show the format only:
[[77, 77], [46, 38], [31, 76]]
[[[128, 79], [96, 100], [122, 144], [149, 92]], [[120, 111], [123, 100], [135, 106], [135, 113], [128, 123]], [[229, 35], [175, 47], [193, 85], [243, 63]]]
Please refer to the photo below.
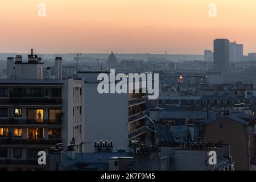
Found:
[[[13, 113], [15, 118], [22, 118], [23, 112], [22, 108], [14, 108]], [[49, 109], [48, 119], [51, 121], [56, 121], [61, 118], [61, 109]], [[0, 117], [8, 117], [8, 109], [0, 108]], [[44, 109], [27, 109], [27, 119], [34, 119], [35, 122], [43, 122], [44, 119]], [[39, 121], [40, 120], [40, 121]]]

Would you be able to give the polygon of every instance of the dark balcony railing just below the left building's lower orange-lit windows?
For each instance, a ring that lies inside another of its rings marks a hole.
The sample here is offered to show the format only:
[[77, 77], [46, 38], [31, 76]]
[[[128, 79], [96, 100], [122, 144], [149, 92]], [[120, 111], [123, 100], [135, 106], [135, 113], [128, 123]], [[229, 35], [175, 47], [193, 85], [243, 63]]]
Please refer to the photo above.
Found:
[[61, 143], [61, 138], [54, 139], [13, 139], [0, 137], [0, 144], [57, 144]]

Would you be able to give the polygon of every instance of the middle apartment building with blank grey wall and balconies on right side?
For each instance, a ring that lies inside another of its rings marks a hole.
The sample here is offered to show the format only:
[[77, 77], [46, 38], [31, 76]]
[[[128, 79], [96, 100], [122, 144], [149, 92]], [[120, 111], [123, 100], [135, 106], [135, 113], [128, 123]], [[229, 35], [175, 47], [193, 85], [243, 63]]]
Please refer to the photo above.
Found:
[[[93, 152], [94, 141], [113, 141], [113, 150], [125, 148], [129, 140], [144, 142], [146, 137], [145, 94], [100, 94], [98, 74], [102, 72], [79, 72], [84, 78], [84, 138], [82, 151]], [[110, 74], [110, 72], [104, 72]]]

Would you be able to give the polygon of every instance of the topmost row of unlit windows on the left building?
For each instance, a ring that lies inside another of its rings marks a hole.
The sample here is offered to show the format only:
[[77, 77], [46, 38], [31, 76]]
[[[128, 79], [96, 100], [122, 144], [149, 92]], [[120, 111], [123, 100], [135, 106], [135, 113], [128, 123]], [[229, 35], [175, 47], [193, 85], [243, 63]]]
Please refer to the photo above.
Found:
[[61, 88], [0, 88], [0, 97], [61, 97]]

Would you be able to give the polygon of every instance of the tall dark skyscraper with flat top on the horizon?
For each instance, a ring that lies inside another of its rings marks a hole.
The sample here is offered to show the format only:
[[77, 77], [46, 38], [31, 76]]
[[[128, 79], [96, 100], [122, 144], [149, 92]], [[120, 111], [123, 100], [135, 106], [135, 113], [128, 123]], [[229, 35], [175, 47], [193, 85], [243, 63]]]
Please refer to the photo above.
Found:
[[213, 68], [229, 69], [229, 40], [228, 39], [214, 40]]

